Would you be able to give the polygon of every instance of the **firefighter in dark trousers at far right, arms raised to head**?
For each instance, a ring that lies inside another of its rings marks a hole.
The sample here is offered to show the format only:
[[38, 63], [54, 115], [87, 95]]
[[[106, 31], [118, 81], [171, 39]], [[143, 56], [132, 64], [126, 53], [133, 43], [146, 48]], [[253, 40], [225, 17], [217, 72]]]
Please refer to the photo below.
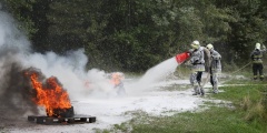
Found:
[[260, 43], [256, 43], [255, 50], [251, 52], [250, 58], [253, 60], [253, 73], [254, 73], [254, 80], [258, 79], [258, 73], [259, 73], [259, 79], [263, 81], [264, 80], [264, 65], [263, 65], [263, 53], [266, 52], [265, 45], [263, 45], [263, 50], [260, 50]]

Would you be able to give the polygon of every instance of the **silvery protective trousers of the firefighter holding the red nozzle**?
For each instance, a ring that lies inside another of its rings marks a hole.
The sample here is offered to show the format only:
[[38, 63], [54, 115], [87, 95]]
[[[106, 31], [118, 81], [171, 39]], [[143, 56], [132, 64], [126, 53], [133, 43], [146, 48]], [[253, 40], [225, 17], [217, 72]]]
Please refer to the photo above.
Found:
[[201, 76], [202, 76], [202, 72], [194, 72], [191, 73], [190, 75], [190, 83], [194, 88], [194, 95], [197, 95], [197, 94], [201, 94], [204, 95], [205, 92], [204, 92], [204, 89], [201, 88]]

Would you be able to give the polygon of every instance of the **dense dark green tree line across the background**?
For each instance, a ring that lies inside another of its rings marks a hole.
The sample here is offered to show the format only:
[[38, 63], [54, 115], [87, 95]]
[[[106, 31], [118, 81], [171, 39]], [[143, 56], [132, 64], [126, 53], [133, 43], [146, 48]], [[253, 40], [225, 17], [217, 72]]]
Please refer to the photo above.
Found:
[[3, 0], [38, 52], [83, 48], [88, 68], [145, 71], [212, 43], [243, 64], [267, 41], [266, 0]]

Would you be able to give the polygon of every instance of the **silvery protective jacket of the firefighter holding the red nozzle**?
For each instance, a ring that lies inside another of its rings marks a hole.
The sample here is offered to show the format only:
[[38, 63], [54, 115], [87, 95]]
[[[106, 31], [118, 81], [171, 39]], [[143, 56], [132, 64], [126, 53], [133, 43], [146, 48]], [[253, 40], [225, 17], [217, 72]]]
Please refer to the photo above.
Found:
[[204, 72], [205, 71], [205, 57], [204, 48], [199, 47], [196, 50], [190, 50], [190, 63], [192, 72]]

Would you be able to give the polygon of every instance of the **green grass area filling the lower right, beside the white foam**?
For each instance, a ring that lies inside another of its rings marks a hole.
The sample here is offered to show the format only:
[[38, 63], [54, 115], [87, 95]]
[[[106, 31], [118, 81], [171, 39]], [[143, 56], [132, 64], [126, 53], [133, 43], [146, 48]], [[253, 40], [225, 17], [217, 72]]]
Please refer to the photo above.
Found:
[[229, 101], [230, 104], [206, 102], [205, 110], [200, 112], [176, 113], [171, 116], [150, 116], [144, 112], [132, 112], [135, 119], [105, 132], [266, 133], [267, 102], [264, 103], [263, 99], [267, 99], [267, 95], [265, 98], [261, 93], [266, 89], [264, 84], [222, 86], [220, 90], [225, 92], [207, 95], [206, 99]]

